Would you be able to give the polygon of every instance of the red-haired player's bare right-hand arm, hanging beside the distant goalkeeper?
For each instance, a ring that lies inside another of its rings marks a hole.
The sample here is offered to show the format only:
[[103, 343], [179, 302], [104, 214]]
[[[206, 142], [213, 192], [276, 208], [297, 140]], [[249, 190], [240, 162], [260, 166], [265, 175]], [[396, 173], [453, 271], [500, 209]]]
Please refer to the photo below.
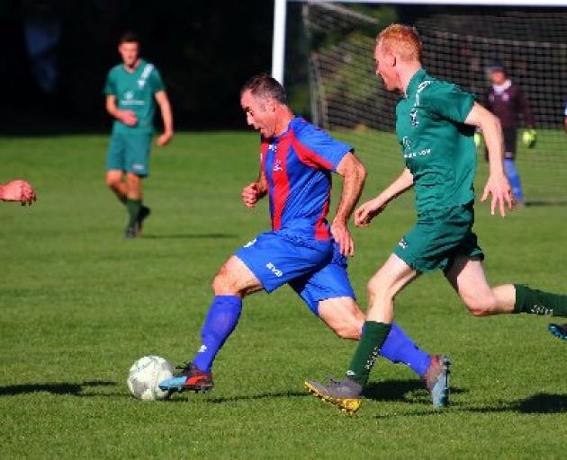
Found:
[[481, 200], [485, 201], [489, 195], [492, 195], [491, 214], [494, 215], [494, 211], [498, 207], [500, 208], [500, 215], [504, 217], [506, 216], [506, 203], [508, 203], [508, 208], [512, 210], [514, 200], [509, 181], [504, 173], [504, 140], [500, 119], [475, 102], [464, 122], [467, 125], [482, 129], [484, 142], [489, 153], [490, 174]]

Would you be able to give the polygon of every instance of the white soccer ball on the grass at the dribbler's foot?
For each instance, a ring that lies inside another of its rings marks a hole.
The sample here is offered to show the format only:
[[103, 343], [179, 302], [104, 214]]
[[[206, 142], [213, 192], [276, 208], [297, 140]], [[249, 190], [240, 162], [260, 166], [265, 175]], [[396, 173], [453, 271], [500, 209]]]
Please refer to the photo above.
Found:
[[164, 358], [158, 356], [145, 356], [139, 358], [128, 375], [128, 388], [130, 393], [144, 401], [166, 399], [169, 392], [159, 389], [157, 384], [173, 376], [174, 368]]

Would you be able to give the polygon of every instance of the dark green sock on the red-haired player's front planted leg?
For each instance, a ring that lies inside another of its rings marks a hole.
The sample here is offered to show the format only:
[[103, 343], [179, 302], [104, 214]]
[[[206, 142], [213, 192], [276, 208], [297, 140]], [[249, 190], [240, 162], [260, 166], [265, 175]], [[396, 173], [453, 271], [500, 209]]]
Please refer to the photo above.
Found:
[[348, 378], [360, 385], [366, 385], [374, 361], [378, 358], [378, 353], [391, 328], [392, 324], [365, 321], [362, 337], [358, 341], [355, 354], [347, 370]]

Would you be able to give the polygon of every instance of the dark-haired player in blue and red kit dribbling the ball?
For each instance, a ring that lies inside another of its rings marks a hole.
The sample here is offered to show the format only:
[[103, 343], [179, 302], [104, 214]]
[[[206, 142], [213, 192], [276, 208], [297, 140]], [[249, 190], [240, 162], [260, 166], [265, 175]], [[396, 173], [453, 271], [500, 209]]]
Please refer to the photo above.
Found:
[[[212, 362], [238, 323], [242, 299], [289, 284], [311, 311], [342, 338], [358, 340], [365, 315], [347, 275], [354, 253], [347, 222], [365, 182], [365, 167], [353, 149], [329, 137], [288, 107], [284, 87], [269, 75], [244, 86], [240, 102], [248, 125], [261, 134], [258, 180], [242, 192], [247, 208], [267, 196], [272, 231], [259, 234], [220, 268], [214, 299], [202, 327], [202, 345], [164, 390], [211, 389]], [[337, 214], [329, 225], [331, 173], [343, 176]], [[421, 376], [436, 406], [448, 398], [448, 360], [431, 357], [394, 326], [381, 355], [410, 366]]]

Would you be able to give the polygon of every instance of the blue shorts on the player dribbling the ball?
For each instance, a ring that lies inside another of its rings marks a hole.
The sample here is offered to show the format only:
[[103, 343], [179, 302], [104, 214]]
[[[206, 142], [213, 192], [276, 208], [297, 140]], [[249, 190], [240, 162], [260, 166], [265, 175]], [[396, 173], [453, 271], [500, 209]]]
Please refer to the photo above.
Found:
[[306, 242], [281, 232], [266, 232], [234, 254], [270, 293], [289, 284], [313, 314], [321, 300], [356, 298], [347, 275], [347, 258], [334, 242]]

